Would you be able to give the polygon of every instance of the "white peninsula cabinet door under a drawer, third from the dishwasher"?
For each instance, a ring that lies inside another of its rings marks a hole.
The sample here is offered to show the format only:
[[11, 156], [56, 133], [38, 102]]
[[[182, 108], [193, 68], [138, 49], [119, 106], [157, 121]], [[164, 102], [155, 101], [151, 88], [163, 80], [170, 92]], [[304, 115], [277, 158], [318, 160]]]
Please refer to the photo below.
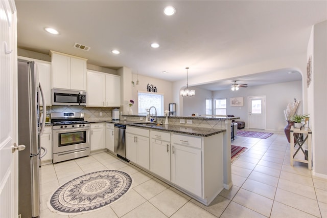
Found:
[[151, 139], [150, 170], [170, 181], [170, 143]]

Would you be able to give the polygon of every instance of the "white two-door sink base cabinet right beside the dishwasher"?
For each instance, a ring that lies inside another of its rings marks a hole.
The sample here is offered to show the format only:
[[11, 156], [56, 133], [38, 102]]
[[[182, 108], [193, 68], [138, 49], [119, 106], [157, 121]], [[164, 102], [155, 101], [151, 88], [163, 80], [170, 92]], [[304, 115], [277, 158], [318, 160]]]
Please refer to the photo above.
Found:
[[126, 127], [126, 158], [139, 166], [150, 169], [148, 129]]

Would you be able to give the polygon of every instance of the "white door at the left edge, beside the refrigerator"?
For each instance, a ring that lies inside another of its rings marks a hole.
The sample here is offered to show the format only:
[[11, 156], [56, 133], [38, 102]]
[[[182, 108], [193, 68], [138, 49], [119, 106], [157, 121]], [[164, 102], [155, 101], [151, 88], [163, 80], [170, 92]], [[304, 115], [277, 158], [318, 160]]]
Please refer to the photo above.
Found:
[[16, 82], [17, 38], [14, 1], [0, 2], [0, 217], [18, 215]]

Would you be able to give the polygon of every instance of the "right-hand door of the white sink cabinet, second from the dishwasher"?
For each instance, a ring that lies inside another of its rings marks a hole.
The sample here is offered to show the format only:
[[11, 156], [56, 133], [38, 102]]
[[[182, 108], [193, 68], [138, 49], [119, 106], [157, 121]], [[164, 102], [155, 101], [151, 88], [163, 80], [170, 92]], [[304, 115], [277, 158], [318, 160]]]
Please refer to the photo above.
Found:
[[149, 138], [136, 136], [137, 143], [137, 164], [150, 169], [150, 144]]

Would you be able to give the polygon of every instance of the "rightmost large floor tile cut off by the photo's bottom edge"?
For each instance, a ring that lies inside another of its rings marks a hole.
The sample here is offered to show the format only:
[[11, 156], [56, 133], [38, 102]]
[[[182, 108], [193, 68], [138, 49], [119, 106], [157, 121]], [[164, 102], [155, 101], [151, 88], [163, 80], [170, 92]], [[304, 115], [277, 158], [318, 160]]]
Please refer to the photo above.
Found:
[[271, 211], [271, 218], [281, 218], [281, 217], [288, 217], [288, 218], [298, 218], [298, 217], [316, 217], [309, 213], [303, 212], [301, 210], [295, 209], [293, 207], [287, 206], [285, 204], [274, 202]]

